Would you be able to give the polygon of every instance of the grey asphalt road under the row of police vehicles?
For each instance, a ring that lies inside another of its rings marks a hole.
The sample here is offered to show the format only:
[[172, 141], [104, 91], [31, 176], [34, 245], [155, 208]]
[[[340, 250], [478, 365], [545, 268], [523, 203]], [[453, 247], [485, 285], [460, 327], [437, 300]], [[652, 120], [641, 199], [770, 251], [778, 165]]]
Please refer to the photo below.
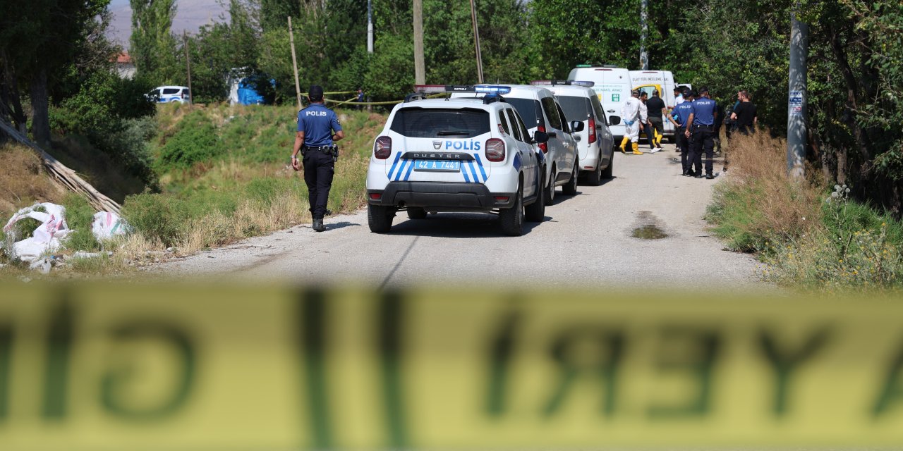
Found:
[[[715, 169], [721, 169], [720, 160]], [[729, 176], [682, 177], [672, 144], [655, 154], [617, 152], [614, 175], [599, 187], [581, 185], [577, 196], [558, 189], [546, 220], [527, 223], [519, 237], [503, 235], [494, 215], [444, 213], [410, 220], [404, 212], [390, 234], [377, 235], [369, 232], [363, 210], [327, 217], [323, 233], [309, 224], [295, 226], [166, 262], [154, 272], [375, 287], [764, 288], [757, 262], [722, 250], [703, 220], [712, 187]], [[667, 236], [632, 236], [637, 227], [650, 225]]]

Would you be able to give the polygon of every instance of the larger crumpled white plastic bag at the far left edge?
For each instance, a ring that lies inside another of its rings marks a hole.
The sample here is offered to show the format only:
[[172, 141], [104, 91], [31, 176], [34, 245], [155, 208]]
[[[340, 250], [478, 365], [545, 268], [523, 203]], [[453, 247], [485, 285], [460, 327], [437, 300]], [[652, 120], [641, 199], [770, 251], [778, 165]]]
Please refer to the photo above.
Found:
[[[43, 207], [45, 212], [34, 211], [35, 207]], [[70, 234], [66, 225], [66, 208], [61, 205], [45, 202], [34, 204], [32, 207], [24, 207], [9, 218], [4, 226], [4, 232], [9, 233], [15, 223], [26, 217], [41, 221], [41, 226], [34, 229], [32, 236], [25, 237], [13, 244], [12, 255], [23, 262], [33, 262], [44, 253], [54, 253], [61, 247], [60, 240]], [[21, 238], [17, 236], [16, 238]], [[9, 253], [9, 250], [7, 250]]]

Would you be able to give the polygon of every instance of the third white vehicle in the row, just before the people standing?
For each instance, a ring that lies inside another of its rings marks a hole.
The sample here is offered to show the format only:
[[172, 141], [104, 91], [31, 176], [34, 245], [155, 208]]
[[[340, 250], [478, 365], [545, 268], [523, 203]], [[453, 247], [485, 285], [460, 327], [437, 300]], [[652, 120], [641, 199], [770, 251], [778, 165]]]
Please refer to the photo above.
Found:
[[[609, 129], [609, 119], [602, 110], [599, 97], [592, 89], [591, 81], [541, 80], [530, 83], [552, 91], [558, 104], [564, 110], [567, 121], [582, 121], [584, 126], [577, 142], [580, 157], [580, 171], [586, 175], [590, 185], [598, 186], [602, 179], [610, 179], [614, 168], [611, 153], [614, 150], [614, 137]], [[614, 116], [611, 121], [619, 124], [620, 118]]]

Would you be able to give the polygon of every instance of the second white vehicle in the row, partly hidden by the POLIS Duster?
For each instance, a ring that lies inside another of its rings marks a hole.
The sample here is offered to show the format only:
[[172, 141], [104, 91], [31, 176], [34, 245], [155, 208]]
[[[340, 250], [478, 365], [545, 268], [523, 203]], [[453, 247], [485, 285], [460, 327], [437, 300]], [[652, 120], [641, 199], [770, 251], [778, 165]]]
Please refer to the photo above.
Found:
[[[580, 171], [577, 161], [577, 140], [572, 135], [573, 126], [581, 127], [582, 122], [568, 124], [564, 119], [562, 107], [558, 105], [552, 91], [545, 87], [530, 85], [511, 85], [511, 91], [505, 95], [507, 103], [517, 109], [524, 118], [527, 131], [544, 132], [548, 135], [548, 143], [539, 143], [538, 152], [544, 155], [545, 203], [552, 205], [555, 187], [563, 187], [564, 194], [577, 194], [577, 176]], [[474, 94], [455, 93], [452, 98], [473, 97]], [[477, 93], [476, 96], [481, 96]]]

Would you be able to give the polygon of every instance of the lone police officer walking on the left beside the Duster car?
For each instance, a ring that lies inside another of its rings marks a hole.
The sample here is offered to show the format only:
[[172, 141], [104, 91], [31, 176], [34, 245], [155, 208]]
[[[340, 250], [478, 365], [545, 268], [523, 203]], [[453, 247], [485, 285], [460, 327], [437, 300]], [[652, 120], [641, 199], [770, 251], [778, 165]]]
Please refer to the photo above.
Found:
[[[332, 175], [338, 159], [336, 141], [345, 137], [335, 112], [323, 105], [323, 88], [313, 85], [308, 92], [311, 105], [298, 112], [298, 133], [294, 136], [293, 170], [304, 170], [308, 200], [313, 216], [313, 230], [322, 232], [326, 202], [332, 188]], [[298, 161], [301, 152], [303, 161]]]

